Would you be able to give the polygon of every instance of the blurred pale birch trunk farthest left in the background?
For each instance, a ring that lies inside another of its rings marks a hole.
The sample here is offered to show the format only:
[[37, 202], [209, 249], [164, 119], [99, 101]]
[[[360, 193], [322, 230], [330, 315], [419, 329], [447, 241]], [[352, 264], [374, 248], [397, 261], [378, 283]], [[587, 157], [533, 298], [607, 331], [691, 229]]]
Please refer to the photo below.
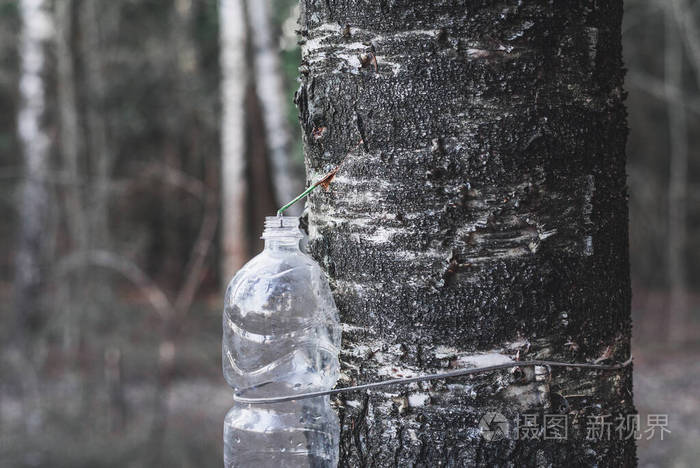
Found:
[[17, 133], [24, 158], [24, 183], [20, 193], [19, 246], [16, 256], [15, 294], [20, 331], [41, 317], [41, 289], [48, 219], [49, 137], [44, 127], [46, 111], [46, 41], [52, 33], [43, 0], [19, 2], [22, 22]]

